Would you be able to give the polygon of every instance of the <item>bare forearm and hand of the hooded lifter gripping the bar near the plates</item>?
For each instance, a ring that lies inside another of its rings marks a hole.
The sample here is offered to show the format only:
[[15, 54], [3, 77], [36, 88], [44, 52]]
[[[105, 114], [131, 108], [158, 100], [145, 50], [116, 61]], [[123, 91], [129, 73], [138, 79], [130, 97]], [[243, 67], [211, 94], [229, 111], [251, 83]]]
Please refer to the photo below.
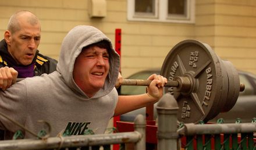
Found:
[[167, 83], [167, 78], [152, 74], [148, 77], [152, 80], [147, 87], [147, 93], [141, 95], [120, 95], [115, 108], [115, 116], [143, 108], [151, 103], [158, 102], [163, 95], [163, 85]]

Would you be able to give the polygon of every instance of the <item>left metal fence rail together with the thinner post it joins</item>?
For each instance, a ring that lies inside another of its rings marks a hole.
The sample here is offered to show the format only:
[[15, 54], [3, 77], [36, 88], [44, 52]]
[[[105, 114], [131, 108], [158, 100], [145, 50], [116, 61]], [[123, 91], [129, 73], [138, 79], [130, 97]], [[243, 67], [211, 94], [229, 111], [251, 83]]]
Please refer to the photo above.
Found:
[[67, 137], [49, 137], [43, 140], [6, 140], [0, 141], [0, 149], [110, 149], [110, 144], [134, 143], [135, 149], [145, 150], [145, 119], [138, 115], [134, 120], [134, 131], [126, 133], [76, 135]]

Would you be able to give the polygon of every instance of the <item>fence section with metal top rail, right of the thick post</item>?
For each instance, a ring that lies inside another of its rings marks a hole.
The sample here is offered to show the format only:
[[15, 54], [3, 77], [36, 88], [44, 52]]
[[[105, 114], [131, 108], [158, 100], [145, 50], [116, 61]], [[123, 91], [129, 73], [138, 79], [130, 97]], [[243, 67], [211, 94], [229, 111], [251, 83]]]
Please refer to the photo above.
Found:
[[184, 148], [190, 149], [256, 149], [255, 123], [184, 124], [178, 130], [186, 135]]

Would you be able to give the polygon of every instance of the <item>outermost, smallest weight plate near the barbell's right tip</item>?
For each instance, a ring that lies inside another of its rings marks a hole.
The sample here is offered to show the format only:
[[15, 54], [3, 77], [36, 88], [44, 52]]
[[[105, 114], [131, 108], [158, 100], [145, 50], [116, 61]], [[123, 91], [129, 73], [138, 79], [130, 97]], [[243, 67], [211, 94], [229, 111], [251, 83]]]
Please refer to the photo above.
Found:
[[223, 63], [226, 66], [228, 81], [229, 81], [229, 88], [226, 103], [222, 108], [222, 112], [228, 112], [230, 109], [233, 108], [234, 104], [239, 97], [240, 92], [240, 80], [239, 74], [237, 70], [234, 68], [231, 62], [223, 60]]

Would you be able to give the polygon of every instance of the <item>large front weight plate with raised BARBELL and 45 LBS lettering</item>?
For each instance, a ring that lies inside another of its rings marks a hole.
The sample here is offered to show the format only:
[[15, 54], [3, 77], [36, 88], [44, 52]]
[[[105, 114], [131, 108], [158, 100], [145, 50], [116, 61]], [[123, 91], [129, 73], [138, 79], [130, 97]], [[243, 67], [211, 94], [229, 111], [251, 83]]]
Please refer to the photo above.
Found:
[[[176, 76], [186, 76], [191, 80], [191, 89], [176, 92], [175, 87], [164, 87], [164, 92], [172, 94], [179, 105], [177, 119], [184, 123], [207, 122], [216, 115], [220, 101], [226, 98], [223, 77], [226, 76], [222, 60], [209, 45], [197, 40], [179, 42], [166, 56], [161, 75], [173, 80]], [[227, 76], [226, 76], [227, 77]]]

